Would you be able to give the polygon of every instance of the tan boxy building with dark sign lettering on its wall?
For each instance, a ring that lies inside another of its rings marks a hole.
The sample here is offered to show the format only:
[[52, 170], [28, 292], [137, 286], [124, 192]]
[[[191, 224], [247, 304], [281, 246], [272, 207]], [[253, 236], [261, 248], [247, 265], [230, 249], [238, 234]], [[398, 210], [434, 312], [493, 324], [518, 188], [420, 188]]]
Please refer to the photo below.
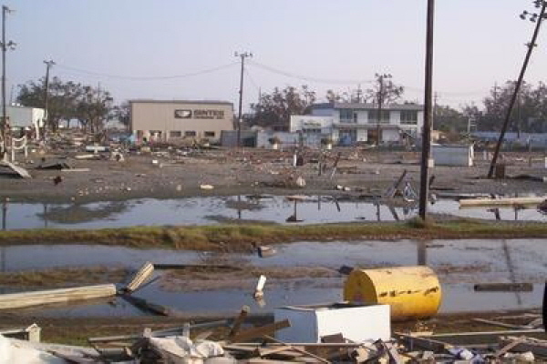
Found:
[[233, 105], [223, 101], [132, 100], [130, 128], [139, 141], [209, 139], [233, 130]]

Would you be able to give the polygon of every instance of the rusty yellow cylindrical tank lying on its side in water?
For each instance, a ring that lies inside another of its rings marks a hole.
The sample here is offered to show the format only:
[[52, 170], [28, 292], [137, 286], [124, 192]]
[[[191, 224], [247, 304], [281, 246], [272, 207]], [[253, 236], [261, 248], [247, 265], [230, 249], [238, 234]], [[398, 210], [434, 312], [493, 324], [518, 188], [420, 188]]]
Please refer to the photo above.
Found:
[[346, 301], [388, 304], [397, 321], [434, 316], [440, 298], [439, 279], [428, 267], [354, 269], [344, 285]]

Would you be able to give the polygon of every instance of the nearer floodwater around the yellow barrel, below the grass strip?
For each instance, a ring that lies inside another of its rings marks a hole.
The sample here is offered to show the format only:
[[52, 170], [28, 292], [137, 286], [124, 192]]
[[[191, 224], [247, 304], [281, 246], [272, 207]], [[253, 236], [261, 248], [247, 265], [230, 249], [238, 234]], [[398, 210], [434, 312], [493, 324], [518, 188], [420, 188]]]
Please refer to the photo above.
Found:
[[[276, 246], [272, 258], [255, 255], [223, 255], [245, 260], [257, 267], [326, 267], [342, 265], [361, 268], [428, 265], [439, 276], [443, 291], [441, 312], [492, 309], [538, 308], [542, 305], [547, 267], [547, 240], [431, 240], [302, 242]], [[203, 253], [139, 250], [103, 246], [8, 246], [0, 248], [0, 269], [16, 271], [53, 267], [108, 266], [139, 268], [144, 262], [200, 264]], [[39, 259], [37, 258], [39, 257]], [[158, 270], [157, 275], [162, 271]], [[157, 283], [135, 295], [190, 314], [235, 314], [243, 305], [252, 311], [271, 312], [276, 307], [339, 301], [343, 299], [345, 277], [266, 282], [266, 305], [259, 307], [251, 291], [241, 288], [187, 292], [167, 291]], [[532, 292], [475, 292], [476, 283], [529, 282]], [[270, 283], [270, 284], [269, 284]], [[2, 288], [0, 288], [2, 289]], [[4, 292], [14, 288], [4, 288]], [[111, 304], [80, 305], [71, 308], [40, 309], [46, 316], [143, 315], [129, 303], [117, 299]]]

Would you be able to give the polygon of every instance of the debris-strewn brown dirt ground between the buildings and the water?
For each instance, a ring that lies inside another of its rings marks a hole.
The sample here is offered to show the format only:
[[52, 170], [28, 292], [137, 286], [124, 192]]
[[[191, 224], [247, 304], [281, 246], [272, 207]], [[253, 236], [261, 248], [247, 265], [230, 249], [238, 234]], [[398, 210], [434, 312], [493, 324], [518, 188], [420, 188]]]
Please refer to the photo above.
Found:
[[[336, 155], [336, 173], [331, 178]], [[230, 195], [381, 195], [404, 170], [407, 180], [419, 190], [419, 155], [416, 152], [376, 152], [359, 148], [339, 148], [325, 156], [325, 172], [319, 176], [317, 150], [308, 150], [304, 166], [293, 167], [292, 151], [245, 148], [151, 153], [130, 152], [124, 161], [77, 159], [81, 152], [34, 153], [18, 156], [32, 178], [0, 175], [0, 198], [32, 202], [92, 202], [155, 197], [176, 198]], [[489, 162], [477, 153], [475, 167], [433, 167], [432, 191], [438, 193], [487, 193], [496, 195], [544, 194], [547, 184], [530, 179], [486, 179]], [[540, 154], [504, 153], [509, 177], [544, 177], [547, 170], [531, 167], [530, 157]], [[60, 160], [72, 170], [38, 169], [39, 165]], [[84, 168], [84, 169], [82, 169]], [[303, 177], [304, 187], [296, 185]], [[56, 184], [57, 182], [57, 184]], [[212, 189], [202, 189], [210, 185]], [[336, 189], [338, 187], [338, 189]], [[345, 190], [341, 189], [342, 187]]]

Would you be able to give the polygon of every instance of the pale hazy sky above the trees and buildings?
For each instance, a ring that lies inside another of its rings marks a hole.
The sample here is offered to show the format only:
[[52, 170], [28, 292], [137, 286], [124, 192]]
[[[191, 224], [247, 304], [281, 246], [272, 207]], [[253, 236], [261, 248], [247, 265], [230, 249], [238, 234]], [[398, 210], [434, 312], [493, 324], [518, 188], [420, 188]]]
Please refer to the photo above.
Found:
[[[516, 79], [533, 24], [532, 0], [437, 0], [434, 89], [439, 104], [478, 102]], [[130, 98], [232, 101], [239, 58], [249, 51], [243, 105], [259, 88], [308, 85], [363, 89], [375, 73], [423, 102], [427, 0], [5, 0], [8, 101], [17, 85], [45, 75]], [[545, 82], [547, 29], [526, 80]], [[217, 69], [218, 68], [218, 69]], [[208, 73], [201, 71], [213, 70]], [[195, 76], [191, 74], [200, 73]], [[290, 75], [290, 76], [289, 76]], [[180, 77], [169, 77], [180, 76]], [[163, 77], [163, 78], [162, 78]]]

